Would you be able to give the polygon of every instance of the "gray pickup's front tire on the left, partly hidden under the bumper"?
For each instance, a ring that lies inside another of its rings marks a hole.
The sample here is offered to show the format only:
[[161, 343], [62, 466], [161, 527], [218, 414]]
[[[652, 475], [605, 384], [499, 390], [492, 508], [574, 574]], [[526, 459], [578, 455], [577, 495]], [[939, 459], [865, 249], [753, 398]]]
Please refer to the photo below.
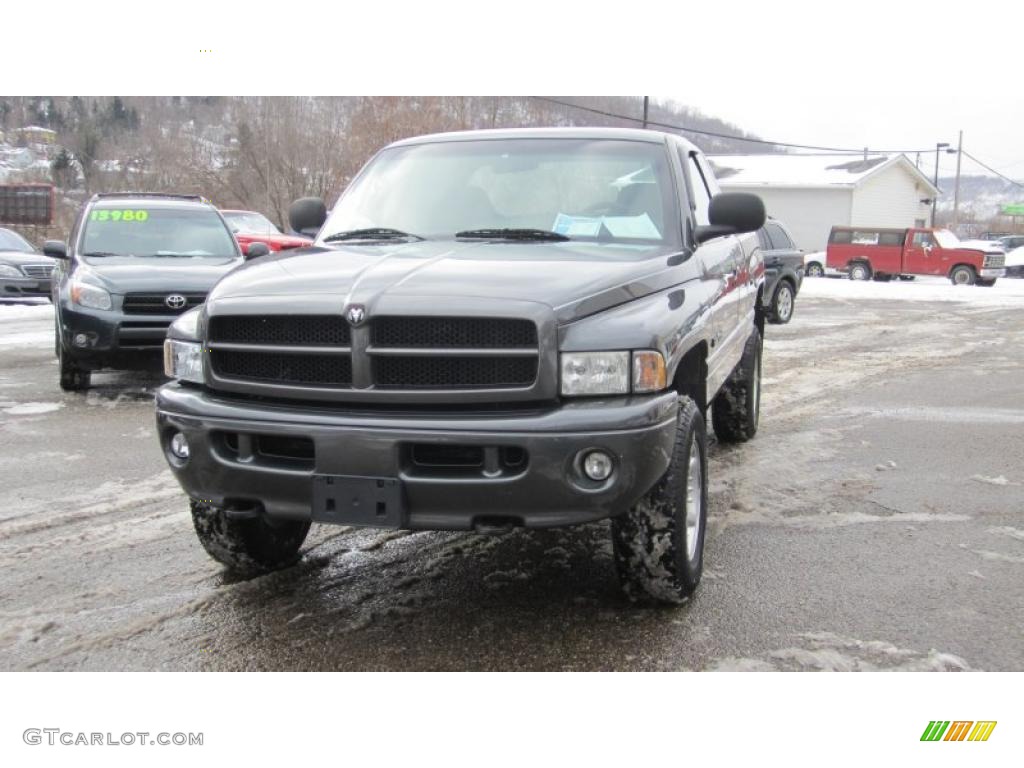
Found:
[[228, 517], [212, 504], [189, 501], [193, 524], [210, 557], [241, 575], [259, 575], [291, 565], [309, 532], [309, 522], [264, 516]]

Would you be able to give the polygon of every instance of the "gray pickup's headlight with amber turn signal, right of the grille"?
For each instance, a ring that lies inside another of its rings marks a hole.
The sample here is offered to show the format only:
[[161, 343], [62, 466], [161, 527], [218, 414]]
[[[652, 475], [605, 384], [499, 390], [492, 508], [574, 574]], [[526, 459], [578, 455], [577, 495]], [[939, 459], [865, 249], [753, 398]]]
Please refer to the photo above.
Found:
[[652, 350], [562, 352], [560, 369], [564, 396], [656, 392], [666, 387], [665, 357]]

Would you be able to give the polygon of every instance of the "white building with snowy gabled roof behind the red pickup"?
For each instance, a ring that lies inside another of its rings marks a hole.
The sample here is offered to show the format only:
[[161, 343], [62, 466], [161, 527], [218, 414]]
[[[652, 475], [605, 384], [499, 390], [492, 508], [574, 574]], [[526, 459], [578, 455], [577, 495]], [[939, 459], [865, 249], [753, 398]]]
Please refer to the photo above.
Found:
[[805, 251], [834, 225], [927, 226], [938, 189], [905, 155], [716, 155], [723, 191], [749, 191]]

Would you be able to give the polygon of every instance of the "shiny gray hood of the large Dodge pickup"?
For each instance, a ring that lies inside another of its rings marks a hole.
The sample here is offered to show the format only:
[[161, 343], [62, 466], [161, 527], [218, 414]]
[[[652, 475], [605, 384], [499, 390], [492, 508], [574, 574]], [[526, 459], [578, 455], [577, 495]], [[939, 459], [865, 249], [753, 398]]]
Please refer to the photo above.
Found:
[[281, 252], [232, 272], [209, 300], [331, 296], [341, 311], [347, 304], [372, 308], [385, 295], [474, 297], [545, 304], [567, 322], [696, 273], [665, 246], [424, 241]]

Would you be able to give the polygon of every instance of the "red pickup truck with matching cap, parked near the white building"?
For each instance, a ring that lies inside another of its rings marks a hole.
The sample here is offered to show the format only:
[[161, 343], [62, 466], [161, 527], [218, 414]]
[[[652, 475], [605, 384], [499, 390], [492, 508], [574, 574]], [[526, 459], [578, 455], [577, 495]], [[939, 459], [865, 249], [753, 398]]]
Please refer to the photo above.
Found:
[[1006, 256], [965, 248], [948, 229], [884, 229], [834, 226], [825, 260], [851, 280], [891, 280], [913, 274], [949, 278], [954, 286], [991, 286], [1006, 273]]

